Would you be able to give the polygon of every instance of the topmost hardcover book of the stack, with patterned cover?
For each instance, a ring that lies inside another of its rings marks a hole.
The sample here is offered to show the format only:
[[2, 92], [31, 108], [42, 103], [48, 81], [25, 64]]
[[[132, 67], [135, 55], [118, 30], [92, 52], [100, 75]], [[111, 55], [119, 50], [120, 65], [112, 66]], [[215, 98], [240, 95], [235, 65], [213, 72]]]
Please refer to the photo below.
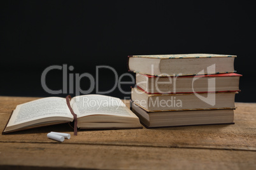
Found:
[[128, 69], [157, 76], [229, 73], [235, 72], [235, 57], [214, 54], [132, 55], [128, 56]]

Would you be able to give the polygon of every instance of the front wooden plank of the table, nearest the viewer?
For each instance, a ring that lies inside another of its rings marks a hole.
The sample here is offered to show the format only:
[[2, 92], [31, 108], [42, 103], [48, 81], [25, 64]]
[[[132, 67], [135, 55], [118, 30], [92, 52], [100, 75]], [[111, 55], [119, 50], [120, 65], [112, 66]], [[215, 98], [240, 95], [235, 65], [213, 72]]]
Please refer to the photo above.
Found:
[[256, 152], [117, 147], [49, 143], [1, 143], [0, 168], [255, 169]]

